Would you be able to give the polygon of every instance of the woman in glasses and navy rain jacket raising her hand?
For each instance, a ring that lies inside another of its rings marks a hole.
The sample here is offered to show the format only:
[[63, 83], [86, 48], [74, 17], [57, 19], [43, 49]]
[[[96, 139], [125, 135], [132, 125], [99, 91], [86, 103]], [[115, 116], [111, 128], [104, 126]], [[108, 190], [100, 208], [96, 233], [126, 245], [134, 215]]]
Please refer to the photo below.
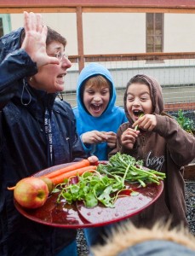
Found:
[[7, 189], [39, 170], [85, 157], [72, 108], [55, 100], [72, 66], [66, 39], [43, 26], [41, 15], [24, 15], [25, 34], [20, 28], [0, 39], [0, 255], [61, 255], [62, 249], [77, 255], [76, 230], [24, 218]]

